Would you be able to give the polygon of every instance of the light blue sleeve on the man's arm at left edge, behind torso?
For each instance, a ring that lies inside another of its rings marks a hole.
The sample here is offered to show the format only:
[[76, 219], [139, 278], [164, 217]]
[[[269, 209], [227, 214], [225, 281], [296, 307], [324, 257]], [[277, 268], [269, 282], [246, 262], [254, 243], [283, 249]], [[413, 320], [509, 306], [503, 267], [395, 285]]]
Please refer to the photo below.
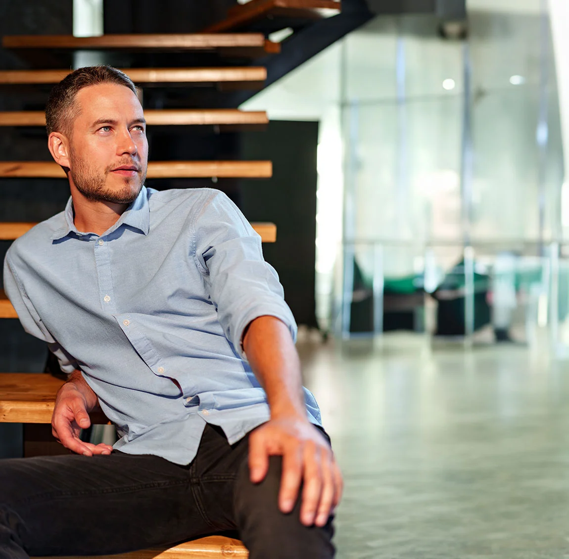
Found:
[[26, 289], [20, 280], [13, 262], [10, 259], [10, 251], [4, 259], [4, 291], [10, 299], [24, 330], [32, 336], [47, 342], [50, 351], [57, 357], [59, 366], [63, 372], [71, 373], [77, 368], [77, 363], [63, 347], [57, 343], [43, 324], [34, 305], [27, 296]]

